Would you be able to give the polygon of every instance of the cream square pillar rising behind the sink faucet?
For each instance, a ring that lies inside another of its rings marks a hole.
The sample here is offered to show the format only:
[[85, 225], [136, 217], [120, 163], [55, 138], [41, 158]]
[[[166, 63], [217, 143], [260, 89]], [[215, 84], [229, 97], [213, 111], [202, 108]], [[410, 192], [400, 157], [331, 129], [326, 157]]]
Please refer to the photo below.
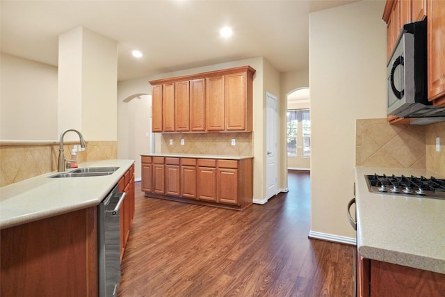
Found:
[[89, 141], [116, 141], [118, 42], [77, 27], [60, 34], [58, 46], [59, 133], [74, 128]]

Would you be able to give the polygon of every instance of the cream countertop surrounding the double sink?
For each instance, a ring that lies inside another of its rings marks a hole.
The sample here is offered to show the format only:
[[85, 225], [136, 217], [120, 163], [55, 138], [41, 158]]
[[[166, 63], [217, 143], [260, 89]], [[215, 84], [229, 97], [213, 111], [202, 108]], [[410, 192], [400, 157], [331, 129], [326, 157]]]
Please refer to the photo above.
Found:
[[[0, 229], [99, 204], [133, 165], [133, 160], [88, 161], [82, 167], [119, 167], [111, 175], [49, 178], [50, 172], [0, 188]], [[68, 169], [67, 172], [74, 170]]]

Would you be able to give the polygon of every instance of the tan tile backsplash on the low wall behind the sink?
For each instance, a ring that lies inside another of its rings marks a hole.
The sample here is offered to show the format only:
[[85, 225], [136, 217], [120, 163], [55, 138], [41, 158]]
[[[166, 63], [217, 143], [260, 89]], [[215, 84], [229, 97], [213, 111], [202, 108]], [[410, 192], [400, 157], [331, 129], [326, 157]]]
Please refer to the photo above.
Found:
[[[71, 150], [79, 143], [66, 143], [64, 154], [71, 158]], [[17, 143], [0, 145], [0, 187], [57, 170], [58, 142], [40, 145]], [[117, 159], [117, 141], [88, 141], [86, 150], [77, 152], [77, 161]]]

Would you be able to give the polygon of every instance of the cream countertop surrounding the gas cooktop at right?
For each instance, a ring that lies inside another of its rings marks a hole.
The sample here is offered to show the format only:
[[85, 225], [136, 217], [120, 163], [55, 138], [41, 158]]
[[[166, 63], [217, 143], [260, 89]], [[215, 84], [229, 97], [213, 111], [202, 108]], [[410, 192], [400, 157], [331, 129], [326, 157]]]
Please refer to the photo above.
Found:
[[374, 173], [444, 178], [426, 170], [355, 168], [359, 254], [445, 273], [445, 200], [369, 193], [364, 175]]

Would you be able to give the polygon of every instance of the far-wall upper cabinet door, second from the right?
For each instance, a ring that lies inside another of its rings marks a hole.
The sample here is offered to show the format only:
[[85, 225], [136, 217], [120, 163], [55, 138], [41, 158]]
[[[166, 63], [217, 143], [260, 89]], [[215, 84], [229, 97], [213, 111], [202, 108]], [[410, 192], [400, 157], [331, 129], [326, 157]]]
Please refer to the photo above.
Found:
[[223, 131], [225, 126], [224, 76], [206, 79], [206, 129]]

